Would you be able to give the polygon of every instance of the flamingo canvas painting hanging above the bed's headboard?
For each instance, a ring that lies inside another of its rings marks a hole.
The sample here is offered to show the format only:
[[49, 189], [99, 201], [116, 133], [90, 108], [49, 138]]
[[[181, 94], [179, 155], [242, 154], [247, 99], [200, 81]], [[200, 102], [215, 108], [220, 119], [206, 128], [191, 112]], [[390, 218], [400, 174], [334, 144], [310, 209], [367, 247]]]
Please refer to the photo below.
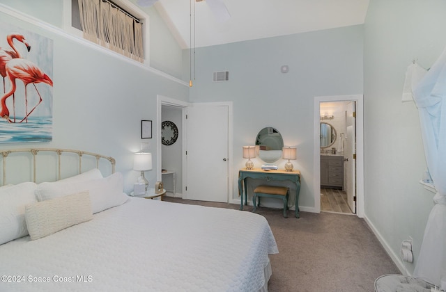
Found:
[[0, 22], [0, 47], [0, 143], [52, 141], [53, 40]]

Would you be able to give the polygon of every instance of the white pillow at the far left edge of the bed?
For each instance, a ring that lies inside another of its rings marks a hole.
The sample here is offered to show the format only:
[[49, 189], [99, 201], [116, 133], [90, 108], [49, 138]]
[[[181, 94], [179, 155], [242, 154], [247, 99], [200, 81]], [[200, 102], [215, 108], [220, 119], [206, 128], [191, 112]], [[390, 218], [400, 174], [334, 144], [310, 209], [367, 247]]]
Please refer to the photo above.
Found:
[[0, 244], [28, 235], [25, 205], [37, 202], [36, 184], [24, 182], [0, 188]]

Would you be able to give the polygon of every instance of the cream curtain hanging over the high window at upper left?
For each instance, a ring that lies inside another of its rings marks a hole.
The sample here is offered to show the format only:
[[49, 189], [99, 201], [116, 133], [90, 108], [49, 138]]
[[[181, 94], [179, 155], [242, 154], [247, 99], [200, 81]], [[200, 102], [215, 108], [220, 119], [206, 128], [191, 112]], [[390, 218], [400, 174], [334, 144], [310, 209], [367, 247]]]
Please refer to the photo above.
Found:
[[109, 2], [78, 0], [84, 38], [144, 62], [142, 24]]

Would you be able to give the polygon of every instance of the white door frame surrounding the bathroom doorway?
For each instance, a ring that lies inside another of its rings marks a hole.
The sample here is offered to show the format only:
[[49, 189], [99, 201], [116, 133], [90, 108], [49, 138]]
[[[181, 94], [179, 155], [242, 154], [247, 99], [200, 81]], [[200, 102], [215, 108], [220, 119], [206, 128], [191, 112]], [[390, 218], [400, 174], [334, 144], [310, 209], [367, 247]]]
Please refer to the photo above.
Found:
[[356, 102], [356, 215], [364, 218], [364, 95], [332, 95], [314, 97], [314, 211], [321, 213], [321, 102]]

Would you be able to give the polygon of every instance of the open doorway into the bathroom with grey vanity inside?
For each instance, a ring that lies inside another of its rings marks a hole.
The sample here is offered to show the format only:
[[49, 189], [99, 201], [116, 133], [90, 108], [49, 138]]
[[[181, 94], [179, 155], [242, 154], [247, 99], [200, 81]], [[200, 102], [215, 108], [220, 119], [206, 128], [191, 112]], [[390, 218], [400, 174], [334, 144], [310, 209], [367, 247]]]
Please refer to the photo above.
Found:
[[314, 106], [315, 207], [362, 217], [362, 95], [316, 97]]

